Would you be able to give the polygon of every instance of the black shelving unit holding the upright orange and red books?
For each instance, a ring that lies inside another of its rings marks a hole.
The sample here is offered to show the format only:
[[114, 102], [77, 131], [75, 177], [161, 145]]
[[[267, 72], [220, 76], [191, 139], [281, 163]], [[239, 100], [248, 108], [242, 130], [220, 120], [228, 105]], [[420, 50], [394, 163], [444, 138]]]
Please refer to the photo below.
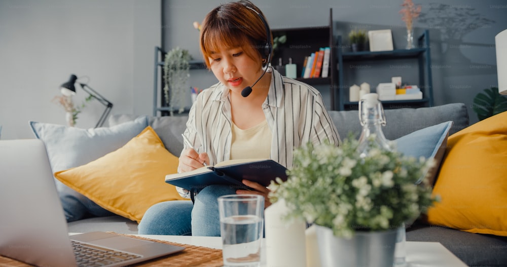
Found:
[[[335, 39], [333, 35], [333, 9], [329, 11], [329, 25], [302, 27], [302, 28], [284, 28], [271, 29], [273, 38], [276, 36], [287, 36], [285, 44], [281, 44], [279, 48], [273, 51], [273, 59], [271, 65], [278, 65], [278, 59], [282, 58], [282, 64], [285, 65], [292, 58], [292, 62], [297, 65], [296, 80], [309, 85], [329, 85], [331, 96], [331, 109], [336, 108], [335, 103], [335, 87], [336, 87], [336, 49]], [[309, 56], [312, 52], [318, 51], [319, 48], [330, 47], [329, 75], [327, 78], [310, 78], [301, 77], [303, 62], [305, 56]]]

